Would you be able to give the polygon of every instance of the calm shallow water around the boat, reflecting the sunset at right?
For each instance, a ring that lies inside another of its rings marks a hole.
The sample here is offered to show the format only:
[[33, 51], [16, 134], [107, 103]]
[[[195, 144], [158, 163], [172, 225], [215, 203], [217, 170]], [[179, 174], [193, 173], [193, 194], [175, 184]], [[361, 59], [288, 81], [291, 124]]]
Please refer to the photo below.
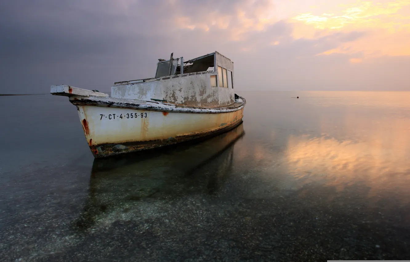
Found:
[[98, 161], [66, 97], [0, 97], [0, 261], [410, 259], [410, 92], [239, 94], [235, 130]]

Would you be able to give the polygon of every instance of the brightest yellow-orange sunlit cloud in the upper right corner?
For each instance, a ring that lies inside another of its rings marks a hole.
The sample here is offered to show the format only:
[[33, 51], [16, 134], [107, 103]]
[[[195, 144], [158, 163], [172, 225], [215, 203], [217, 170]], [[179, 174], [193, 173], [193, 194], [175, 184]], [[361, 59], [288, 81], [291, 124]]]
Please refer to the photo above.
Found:
[[[410, 55], [410, 0], [384, 3], [358, 1], [337, 14], [304, 13], [291, 19], [295, 38], [316, 38], [335, 32], [366, 32], [367, 37], [327, 53], [362, 52], [366, 57]], [[407, 10], [407, 11], [406, 11]], [[323, 53], [323, 54], [326, 54]]]

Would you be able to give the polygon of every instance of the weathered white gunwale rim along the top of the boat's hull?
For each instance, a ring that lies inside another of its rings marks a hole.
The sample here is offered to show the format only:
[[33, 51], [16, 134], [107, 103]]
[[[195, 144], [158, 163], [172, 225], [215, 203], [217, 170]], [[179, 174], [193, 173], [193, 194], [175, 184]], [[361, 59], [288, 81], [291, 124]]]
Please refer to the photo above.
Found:
[[[70, 102], [75, 106], [101, 106], [101, 107], [112, 107], [112, 108], [131, 108], [136, 110], [148, 110], [148, 111], [160, 111], [160, 112], [175, 112], [175, 113], [206, 113], [206, 114], [218, 114], [218, 113], [230, 113], [241, 110], [246, 104], [246, 100], [243, 97], [242, 102], [239, 106], [231, 107], [225, 106], [223, 108], [198, 108], [189, 106], [178, 106], [170, 103], [162, 102], [152, 102], [145, 100], [134, 100], [134, 99], [124, 99], [128, 101], [114, 101], [112, 97], [84, 97], [84, 96], [73, 96], [70, 97]], [[111, 100], [111, 101], [110, 101]], [[120, 100], [116, 98], [115, 100]], [[134, 102], [131, 102], [134, 101]], [[141, 103], [138, 103], [141, 101]], [[148, 104], [150, 103], [150, 104]], [[154, 105], [156, 103], [158, 105]], [[235, 104], [234, 103], [234, 104]]]

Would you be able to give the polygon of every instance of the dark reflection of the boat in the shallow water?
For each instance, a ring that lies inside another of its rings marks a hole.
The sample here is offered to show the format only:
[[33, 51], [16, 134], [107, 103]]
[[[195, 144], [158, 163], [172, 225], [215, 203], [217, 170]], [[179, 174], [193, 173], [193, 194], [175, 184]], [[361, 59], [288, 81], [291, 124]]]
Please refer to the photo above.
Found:
[[155, 216], [161, 203], [213, 194], [232, 168], [243, 124], [200, 142], [94, 159], [89, 195], [77, 226], [83, 229]]

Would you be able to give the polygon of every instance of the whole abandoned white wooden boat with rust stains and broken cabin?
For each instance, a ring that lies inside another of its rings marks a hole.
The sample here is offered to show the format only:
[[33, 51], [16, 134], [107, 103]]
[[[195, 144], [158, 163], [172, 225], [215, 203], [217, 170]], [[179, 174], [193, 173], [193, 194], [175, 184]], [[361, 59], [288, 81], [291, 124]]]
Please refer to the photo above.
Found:
[[234, 93], [233, 62], [218, 52], [188, 61], [159, 59], [154, 78], [98, 90], [53, 85], [78, 115], [94, 157], [175, 144], [235, 128], [245, 99]]

